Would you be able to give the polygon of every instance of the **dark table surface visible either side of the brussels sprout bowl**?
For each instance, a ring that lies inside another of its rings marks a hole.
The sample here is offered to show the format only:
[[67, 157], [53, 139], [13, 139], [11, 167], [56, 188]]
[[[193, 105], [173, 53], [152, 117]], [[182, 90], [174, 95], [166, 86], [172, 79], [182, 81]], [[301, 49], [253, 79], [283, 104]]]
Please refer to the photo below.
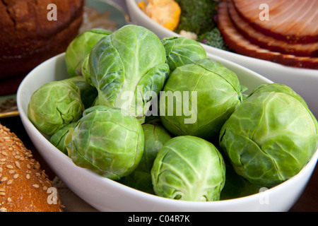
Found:
[[[8, 117], [0, 119], [0, 123], [9, 129], [23, 141], [26, 148], [32, 150], [33, 155], [37, 161], [40, 162], [42, 169], [45, 169], [50, 179], [54, 178], [54, 172], [50, 169], [42, 159], [41, 155], [37, 153], [36, 148], [30, 141], [28, 134], [23, 128], [23, 124], [20, 121], [20, 117]], [[291, 212], [318, 212], [318, 167], [315, 168], [310, 182], [307, 184], [302, 196], [298, 199], [297, 203], [290, 209]]]

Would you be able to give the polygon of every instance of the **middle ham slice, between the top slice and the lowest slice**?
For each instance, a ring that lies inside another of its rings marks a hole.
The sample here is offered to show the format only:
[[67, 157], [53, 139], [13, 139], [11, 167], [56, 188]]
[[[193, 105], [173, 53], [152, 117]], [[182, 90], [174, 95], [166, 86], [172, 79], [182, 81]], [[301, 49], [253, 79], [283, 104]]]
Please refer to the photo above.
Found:
[[235, 28], [237, 28], [247, 40], [258, 44], [260, 47], [274, 52], [281, 52], [283, 54], [293, 54], [298, 57], [318, 57], [318, 42], [291, 44], [284, 40], [276, 40], [271, 36], [264, 35], [258, 30], [255, 30], [249, 23], [240, 17], [233, 4], [233, 0], [228, 1], [228, 12]]

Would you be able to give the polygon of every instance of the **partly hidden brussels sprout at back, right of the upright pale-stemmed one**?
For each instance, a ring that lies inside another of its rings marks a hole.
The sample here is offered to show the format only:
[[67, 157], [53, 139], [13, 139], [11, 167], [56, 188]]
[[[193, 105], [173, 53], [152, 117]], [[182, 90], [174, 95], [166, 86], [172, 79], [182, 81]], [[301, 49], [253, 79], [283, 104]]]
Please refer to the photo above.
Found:
[[166, 37], [161, 42], [165, 47], [170, 71], [175, 70], [178, 66], [192, 64], [199, 59], [207, 58], [204, 47], [187, 37]]

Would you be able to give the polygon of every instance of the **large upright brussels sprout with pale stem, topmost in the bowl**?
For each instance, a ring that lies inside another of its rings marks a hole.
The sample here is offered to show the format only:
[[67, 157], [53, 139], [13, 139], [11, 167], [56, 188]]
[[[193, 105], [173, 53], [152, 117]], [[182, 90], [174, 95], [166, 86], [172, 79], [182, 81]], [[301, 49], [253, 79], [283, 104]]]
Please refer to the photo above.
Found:
[[95, 44], [88, 74], [100, 105], [126, 109], [143, 122], [153, 94], [159, 94], [169, 74], [165, 47], [150, 30], [125, 25]]

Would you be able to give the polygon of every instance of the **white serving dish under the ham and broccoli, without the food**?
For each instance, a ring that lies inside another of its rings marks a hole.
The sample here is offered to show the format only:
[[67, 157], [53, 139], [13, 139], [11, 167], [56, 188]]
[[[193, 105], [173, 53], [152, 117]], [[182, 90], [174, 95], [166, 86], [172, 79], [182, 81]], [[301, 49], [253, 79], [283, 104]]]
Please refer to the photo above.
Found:
[[[137, 6], [137, 3], [143, 0], [126, 0], [127, 9], [131, 23], [142, 25], [158, 35], [158, 37], [179, 36], [176, 32], [159, 25], [146, 16]], [[247, 67], [257, 73], [271, 79], [276, 83], [282, 83], [293, 88], [307, 102], [312, 113], [318, 118], [318, 70], [299, 69], [290, 66], [283, 66], [270, 61], [246, 57], [240, 54], [224, 51], [215, 47], [202, 44], [206, 52], [223, 57], [237, 64]]]

